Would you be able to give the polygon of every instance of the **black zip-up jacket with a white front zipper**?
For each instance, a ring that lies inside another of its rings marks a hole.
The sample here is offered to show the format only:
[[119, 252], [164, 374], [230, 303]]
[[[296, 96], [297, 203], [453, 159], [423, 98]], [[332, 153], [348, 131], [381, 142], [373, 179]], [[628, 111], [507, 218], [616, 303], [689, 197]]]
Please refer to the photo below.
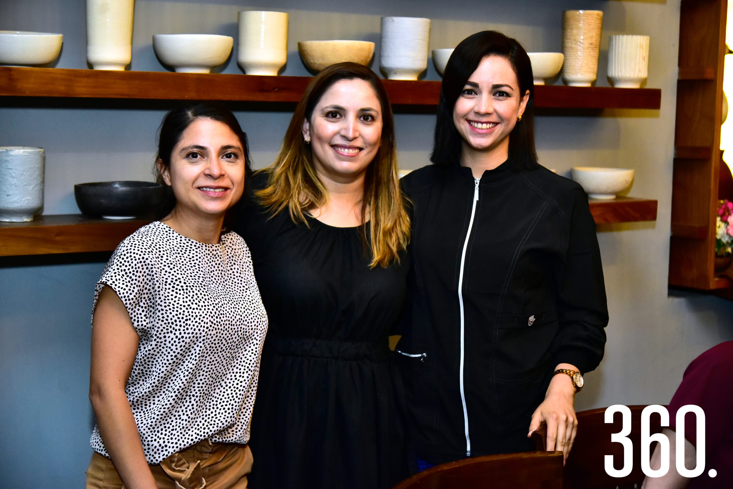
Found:
[[603, 269], [588, 199], [546, 168], [430, 165], [402, 179], [412, 269], [397, 350], [419, 458], [534, 449], [559, 363], [603, 358]]

